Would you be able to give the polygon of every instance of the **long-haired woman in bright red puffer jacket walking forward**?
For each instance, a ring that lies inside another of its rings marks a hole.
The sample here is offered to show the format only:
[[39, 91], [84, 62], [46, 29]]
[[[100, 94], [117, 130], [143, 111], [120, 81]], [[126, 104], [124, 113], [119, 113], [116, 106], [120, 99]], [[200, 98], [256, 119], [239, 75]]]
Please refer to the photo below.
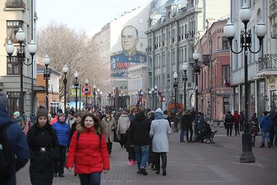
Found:
[[101, 173], [109, 170], [109, 155], [100, 120], [94, 114], [88, 113], [82, 118], [72, 136], [66, 168], [80, 177], [81, 185], [98, 185]]

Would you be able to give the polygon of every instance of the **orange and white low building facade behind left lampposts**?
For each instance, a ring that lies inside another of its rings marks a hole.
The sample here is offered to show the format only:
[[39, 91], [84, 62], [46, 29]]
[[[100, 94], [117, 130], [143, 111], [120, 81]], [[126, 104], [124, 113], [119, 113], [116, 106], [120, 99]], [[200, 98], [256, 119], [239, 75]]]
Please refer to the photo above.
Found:
[[[41, 64], [37, 64], [37, 85], [44, 87], [46, 91], [46, 81], [44, 80], [44, 71], [46, 67]], [[48, 68], [51, 71], [50, 80], [48, 80], [48, 107], [51, 114], [57, 113], [57, 109], [64, 109], [64, 103], [60, 103], [59, 81], [61, 74], [57, 71]], [[46, 106], [46, 94], [45, 91], [37, 93], [37, 105]]]

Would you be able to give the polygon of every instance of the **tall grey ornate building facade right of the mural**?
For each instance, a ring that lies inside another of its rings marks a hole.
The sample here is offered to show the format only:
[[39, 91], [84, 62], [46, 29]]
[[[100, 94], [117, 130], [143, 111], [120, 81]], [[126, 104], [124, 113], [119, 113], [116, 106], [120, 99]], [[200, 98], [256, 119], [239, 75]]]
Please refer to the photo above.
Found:
[[[195, 44], [206, 30], [206, 20], [217, 20], [229, 15], [230, 1], [187, 1], [166, 4], [163, 12], [152, 10], [148, 21], [148, 88], [155, 85], [160, 96], [170, 103], [174, 96], [173, 73], [178, 73], [177, 101], [184, 102], [182, 66], [188, 64], [186, 87], [187, 109], [195, 107], [195, 74], [193, 53]], [[152, 6], [154, 7], [154, 2]], [[153, 96], [148, 96], [150, 102]], [[161, 98], [160, 98], [161, 99]], [[157, 103], [152, 103], [152, 109]]]

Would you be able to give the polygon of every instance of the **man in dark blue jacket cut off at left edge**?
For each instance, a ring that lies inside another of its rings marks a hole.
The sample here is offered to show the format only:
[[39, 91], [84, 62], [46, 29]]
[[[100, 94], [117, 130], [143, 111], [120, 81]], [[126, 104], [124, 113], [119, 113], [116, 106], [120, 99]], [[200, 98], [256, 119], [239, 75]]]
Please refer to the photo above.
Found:
[[16, 177], [15, 173], [21, 168], [23, 168], [28, 159], [30, 158], [29, 148], [24, 136], [24, 133], [21, 130], [21, 127], [18, 124], [10, 123], [10, 116], [8, 116], [8, 112], [6, 111], [7, 106], [7, 96], [6, 94], [0, 93], [0, 127], [6, 124], [10, 124], [6, 128], [6, 135], [8, 138], [9, 146], [12, 150], [12, 155], [15, 155], [15, 160], [12, 162], [11, 170], [8, 175], [11, 177], [3, 175], [1, 172], [0, 175], [0, 184], [1, 185], [15, 185]]

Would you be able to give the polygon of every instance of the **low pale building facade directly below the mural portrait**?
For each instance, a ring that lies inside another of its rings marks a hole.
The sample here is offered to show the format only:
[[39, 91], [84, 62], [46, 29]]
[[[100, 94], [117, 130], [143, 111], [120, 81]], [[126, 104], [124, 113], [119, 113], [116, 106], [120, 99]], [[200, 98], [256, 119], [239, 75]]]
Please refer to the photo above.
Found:
[[[148, 107], [147, 102], [147, 66], [146, 63], [136, 64], [128, 68], [129, 106], [134, 107], [141, 102], [141, 106]], [[139, 89], [141, 90], [139, 92]]]

